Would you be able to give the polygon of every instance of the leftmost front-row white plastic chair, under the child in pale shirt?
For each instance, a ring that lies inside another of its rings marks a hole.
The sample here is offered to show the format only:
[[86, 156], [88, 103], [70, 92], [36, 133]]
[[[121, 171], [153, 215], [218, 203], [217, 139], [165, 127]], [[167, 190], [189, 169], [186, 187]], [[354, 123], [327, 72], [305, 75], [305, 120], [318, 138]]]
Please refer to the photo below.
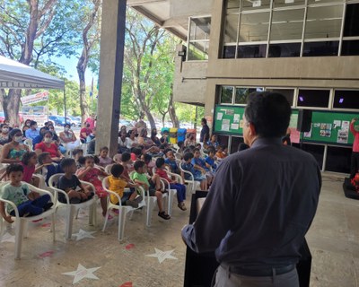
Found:
[[[7, 184], [9, 182], [2, 182], [0, 183], [0, 188], [2, 189], [4, 187], [5, 184]], [[49, 192], [48, 190], [45, 189], [40, 189], [38, 187], [34, 187], [31, 186], [30, 184], [25, 183], [29, 189], [31, 191], [35, 191], [37, 193], [39, 193], [40, 195], [48, 195], [50, 196], [50, 200], [51, 202], [54, 204], [48, 211], [41, 213], [39, 215], [36, 216], [29, 216], [29, 217], [20, 217], [19, 216], [19, 211], [17, 209], [16, 204], [13, 204], [13, 202], [9, 201], [9, 200], [5, 200], [2, 198], [2, 196], [0, 196], [0, 201], [4, 202], [5, 204], [10, 204], [13, 206], [13, 210], [15, 213], [15, 216], [12, 216], [12, 220], [15, 222], [15, 259], [20, 259], [21, 258], [21, 253], [22, 253], [22, 239], [24, 237], [24, 234], [27, 231], [27, 225], [28, 222], [32, 222], [32, 221], [37, 221], [39, 219], [48, 217], [49, 215], [51, 216], [51, 232], [52, 232], [52, 239], [55, 241], [55, 213], [57, 211], [57, 206], [56, 206], [56, 196], [54, 196], [51, 192]], [[1, 231], [0, 234], [4, 233], [4, 226], [6, 226], [7, 224], [4, 224], [4, 219], [1, 218]]]

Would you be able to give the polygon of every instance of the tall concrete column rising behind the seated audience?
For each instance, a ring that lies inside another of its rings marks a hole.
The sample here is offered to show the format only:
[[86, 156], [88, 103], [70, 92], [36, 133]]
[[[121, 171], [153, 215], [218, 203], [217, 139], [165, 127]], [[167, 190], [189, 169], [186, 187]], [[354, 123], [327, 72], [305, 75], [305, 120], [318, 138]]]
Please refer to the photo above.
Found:
[[102, 2], [99, 104], [96, 124], [96, 152], [118, 149], [122, 71], [125, 46], [126, 0]]

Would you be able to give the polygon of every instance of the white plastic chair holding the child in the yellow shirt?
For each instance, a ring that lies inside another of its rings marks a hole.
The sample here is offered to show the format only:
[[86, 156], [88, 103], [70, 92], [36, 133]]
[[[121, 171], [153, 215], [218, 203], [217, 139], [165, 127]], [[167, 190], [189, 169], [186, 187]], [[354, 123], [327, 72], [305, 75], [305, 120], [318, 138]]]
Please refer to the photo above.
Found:
[[[126, 223], [127, 213], [130, 213], [130, 219], [132, 219], [132, 214], [134, 213], [135, 210], [145, 207], [144, 188], [138, 187], [138, 189], [141, 190], [141, 196], [142, 196], [143, 200], [140, 204], [138, 204], [137, 208], [134, 208], [132, 206], [122, 205], [121, 197], [118, 196], [118, 194], [116, 192], [109, 190], [109, 177], [102, 179], [102, 187], [109, 193], [109, 196], [107, 197], [107, 213], [105, 216], [105, 222], [103, 223], [102, 231], [105, 231], [105, 229], [106, 229], [106, 224], [109, 219], [109, 211], [111, 209], [117, 209], [118, 210], [118, 241], [121, 241], [121, 240], [123, 240], [124, 235], [125, 235], [125, 223]], [[116, 196], [118, 198], [118, 204], [111, 203], [110, 195]], [[144, 215], [144, 224], [146, 224], [145, 215]]]

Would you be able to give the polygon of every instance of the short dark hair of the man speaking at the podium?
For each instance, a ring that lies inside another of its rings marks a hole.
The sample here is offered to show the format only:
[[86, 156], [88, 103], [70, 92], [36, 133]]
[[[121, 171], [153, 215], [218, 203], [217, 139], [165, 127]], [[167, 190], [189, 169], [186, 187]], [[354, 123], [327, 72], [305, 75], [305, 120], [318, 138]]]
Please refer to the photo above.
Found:
[[260, 137], [282, 137], [291, 119], [291, 106], [278, 92], [253, 92], [249, 95], [244, 115]]

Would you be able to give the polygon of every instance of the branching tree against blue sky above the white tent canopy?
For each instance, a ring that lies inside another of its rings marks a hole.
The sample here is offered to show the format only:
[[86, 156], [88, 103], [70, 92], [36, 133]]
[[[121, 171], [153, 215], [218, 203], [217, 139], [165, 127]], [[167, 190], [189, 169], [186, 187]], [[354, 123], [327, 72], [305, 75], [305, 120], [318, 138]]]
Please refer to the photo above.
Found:
[[[25, 65], [39, 67], [41, 60], [74, 53], [74, 12], [66, 0], [10, 0], [0, 4], [0, 54]], [[0, 93], [5, 117], [18, 121], [21, 90]]]

